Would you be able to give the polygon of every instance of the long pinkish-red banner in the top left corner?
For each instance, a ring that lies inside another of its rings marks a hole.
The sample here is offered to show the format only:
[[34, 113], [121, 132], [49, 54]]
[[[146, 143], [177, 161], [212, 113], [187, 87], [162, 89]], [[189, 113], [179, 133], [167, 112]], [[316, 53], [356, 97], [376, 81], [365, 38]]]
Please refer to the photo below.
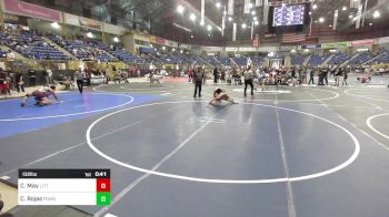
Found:
[[53, 9], [26, 3], [18, 0], [3, 0], [1, 3], [2, 10], [8, 13], [62, 22], [62, 13]]

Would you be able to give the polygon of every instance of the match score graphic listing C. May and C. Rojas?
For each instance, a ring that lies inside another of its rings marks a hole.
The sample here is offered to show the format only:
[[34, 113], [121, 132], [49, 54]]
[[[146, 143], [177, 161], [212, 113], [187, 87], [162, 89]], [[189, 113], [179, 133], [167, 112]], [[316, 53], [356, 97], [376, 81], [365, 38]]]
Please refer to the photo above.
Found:
[[19, 169], [18, 203], [108, 206], [110, 169]]

